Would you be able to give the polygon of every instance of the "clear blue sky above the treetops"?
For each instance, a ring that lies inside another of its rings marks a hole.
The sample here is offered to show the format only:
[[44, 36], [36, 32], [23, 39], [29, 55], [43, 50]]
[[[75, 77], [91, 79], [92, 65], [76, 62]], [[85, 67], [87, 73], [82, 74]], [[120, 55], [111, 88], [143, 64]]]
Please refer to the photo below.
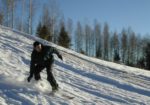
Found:
[[97, 19], [107, 22], [111, 31], [129, 26], [140, 34], [150, 33], [150, 0], [58, 0], [65, 18], [74, 23]]

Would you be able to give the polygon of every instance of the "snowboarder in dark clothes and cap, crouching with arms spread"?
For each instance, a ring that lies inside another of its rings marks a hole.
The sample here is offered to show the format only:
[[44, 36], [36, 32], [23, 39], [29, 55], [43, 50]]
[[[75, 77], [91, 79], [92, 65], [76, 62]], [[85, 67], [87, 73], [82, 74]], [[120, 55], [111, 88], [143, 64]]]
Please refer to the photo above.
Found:
[[54, 62], [53, 54], [56, 54], [58, 58], [63, 60], [61, 54], [54, 47], [45, 46], [38, 41], [33, 43], [33, 51], [30, 62], [30, 75], [27, 78], [28, 82], [30, 82], [33, 75], [35, 80], [40, 80], [40, 72], [46, 68], [47, 80], [52, 86], [52, 91], [58, 90], [58, 84], [52, 73], [52, 64]]

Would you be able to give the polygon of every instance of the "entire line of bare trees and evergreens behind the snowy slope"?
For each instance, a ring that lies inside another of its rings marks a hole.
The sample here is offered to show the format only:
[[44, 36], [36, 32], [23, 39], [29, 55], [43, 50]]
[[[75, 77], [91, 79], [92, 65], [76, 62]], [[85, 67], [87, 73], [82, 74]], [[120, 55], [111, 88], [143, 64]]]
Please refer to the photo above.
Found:
[[43, 4], [40, 0], [0, 0], [1, 25], [88, 56], [150, 70], [149, 35], [139, 35], [130, 27], [112, 32], [108, 23], [93, 23], [66, 20], [56, 0]]

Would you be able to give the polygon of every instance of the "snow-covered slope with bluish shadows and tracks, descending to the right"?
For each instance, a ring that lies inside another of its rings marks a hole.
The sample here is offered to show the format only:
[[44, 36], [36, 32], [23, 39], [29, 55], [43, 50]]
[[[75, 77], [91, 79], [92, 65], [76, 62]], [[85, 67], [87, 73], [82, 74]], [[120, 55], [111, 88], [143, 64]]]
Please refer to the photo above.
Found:
[[[49, 94], [45, 70], [41, 81], [26, 81], [35, 40], [63, 55], [63, 61], [55, 56], [53, 66], [61, 88], [55, 96]], [[150, 72], [90, 58], [0, 26], [0, 105], [150, 105]]]

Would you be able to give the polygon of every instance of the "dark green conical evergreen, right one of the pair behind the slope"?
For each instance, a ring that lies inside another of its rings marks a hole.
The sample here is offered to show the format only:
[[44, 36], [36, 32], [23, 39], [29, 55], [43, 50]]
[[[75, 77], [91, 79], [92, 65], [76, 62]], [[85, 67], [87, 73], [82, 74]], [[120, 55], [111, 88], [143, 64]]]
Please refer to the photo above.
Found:
[[70, 38], [68, 36], [68, 33], [66, 32], [65, 27], [62, 26], [61, 30], [60, 30], [59, 37], [58, 37], [58, 44], [63, 46], [63, 47], [69, 48], [70, 42], [71, 41], [70, 41]]

